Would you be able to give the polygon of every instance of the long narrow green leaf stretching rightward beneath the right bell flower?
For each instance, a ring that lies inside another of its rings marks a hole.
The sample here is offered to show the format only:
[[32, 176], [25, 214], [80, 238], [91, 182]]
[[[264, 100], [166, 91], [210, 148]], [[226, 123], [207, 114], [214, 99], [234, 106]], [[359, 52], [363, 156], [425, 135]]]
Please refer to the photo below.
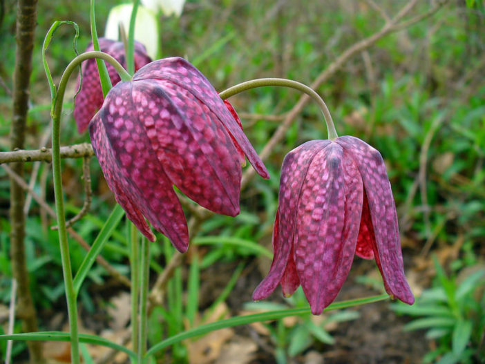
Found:
[[[348, 300], [348, 301], [342, 301], [338, 303], [332, 303], [332, 305], [328, 306], [325, 309], [325, 312], [332, 311], [334, 309], [344, 309], [344, 308], [355, 307], [359, 305], [365, 305], [367, 303], [374, 303], [381, 300], [387, 300], [388, 298], [389, 296], [387, 294], [382, 294], [380, 296], [359, 298], [356, 300]], [[193, 338], [195, 336], [207, 334], [207, 332], [213, 332], [218, 329], [224, 329], [226, 327], [234, 327], [234, 326], [240, 326], [240, 325], [247, 325], [249, 323], [256, 323], [256, 322], [267, 321], [267, 320], [278, 320], [279, 318], [284, 318], [287, 316], [303, 316], [308, 314], [310, 314], [309, 308], [283, 309], [283, 310], [278, 310], [273, 312], [264, 312], [262, 314], [236, 316], [236, 317], [228, 318], [227, 320], [217, 321], [216, 323], [208, 323], [206, 325], [201, 325], [199, 327], [189, 329], [185, 332], [180, 332], [179, 334], [171, 336], [170, 338], [167, 338], [166, 340], [156, 345], [153, 345], [153, 347], [151, 347], [151, 349], [149, 349], [149, 351], [146, 352], [146, 356], [153, 355], [155, 354], [155, 352], [158, 352], [161, 349], [164, 349], [164, 347], [168, 347], [175, 343], [180, 343], [180, 341], [183, 341], [187, 338]]]

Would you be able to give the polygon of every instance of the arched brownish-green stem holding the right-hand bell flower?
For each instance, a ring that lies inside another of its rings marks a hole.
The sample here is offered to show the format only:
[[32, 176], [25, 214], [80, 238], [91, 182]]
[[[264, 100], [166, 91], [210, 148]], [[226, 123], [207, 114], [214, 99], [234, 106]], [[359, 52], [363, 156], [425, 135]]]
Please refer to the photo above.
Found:
[[242, 84], [237, 84], [236, 86], [232, 86], [227, 90], [222, 91], [220, 93], [220, 97], [222, 99], [227, 99], [228, 97], [234, 96], [238, 93], [242, 93], [242, 91], [251, 90], [251, 88], [263, 87], [263, 86], [282, 86], [282, 87], [289, 87], [295, 88], [303, 93], [306, 93], [315, 102], [320, 106], [320, 109], [323, 113], [323, 118], [327, 124], [327, 131], [328, 131], [328, 138], [330, 140], [334, 140], [339, 135], [337, 135], [334, 122], [332, 120], [332, 115], [330, 115], [330, 111], [328, 111], [327, 105], [323, 101], [323, 99], [315, 92], [313, 88], [310, 88], [301, 82], [293, 81], [292, 79], [282, 79], [282, 78], [260, 78], [260, 79], [251, 79], [251, 81], [242, 82]]

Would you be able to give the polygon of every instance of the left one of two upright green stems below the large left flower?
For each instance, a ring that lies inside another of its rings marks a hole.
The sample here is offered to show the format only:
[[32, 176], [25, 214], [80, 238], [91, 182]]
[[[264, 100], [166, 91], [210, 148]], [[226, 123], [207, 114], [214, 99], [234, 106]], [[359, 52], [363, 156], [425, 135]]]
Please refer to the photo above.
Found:
[[130, 265], [131, 265], [131, 343], [133, 352], [138, 352], [138, 308], [140, 297], [140, 249], [138, 247], [138, 231], [128, 219]]

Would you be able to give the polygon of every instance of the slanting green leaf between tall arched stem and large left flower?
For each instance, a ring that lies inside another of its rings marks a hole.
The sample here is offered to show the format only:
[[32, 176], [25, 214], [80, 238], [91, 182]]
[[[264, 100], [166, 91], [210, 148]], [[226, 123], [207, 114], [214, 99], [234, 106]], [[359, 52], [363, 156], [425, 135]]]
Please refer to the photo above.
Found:
[[81, 267], [79, 267], [79, 270], [77, 271], [73, 282], [76, 294], [79, 293], [79, 289], [81, 288], [82, 282], [84, 281], [84, 278], [86, 278], [89, 269], [93, 267], [96, 257], [103, 249], [104, 244], [106, 243], [106, 241], [108, 241], [108, 238], [111, 236], [111, 233], [113, 232], [115, 227], [117, 227], [123, 215], [124, 210], [119, 204], [116, 204], [113, 211], [111, 211], [108, 220], [106, 220], [104, 227], [102, 227], [101, 231], [99, 231], [99, 234], [93, 242], [93, 246], [91, 247], [91, 249], [89, 249], [86, 257], [84, 257]]

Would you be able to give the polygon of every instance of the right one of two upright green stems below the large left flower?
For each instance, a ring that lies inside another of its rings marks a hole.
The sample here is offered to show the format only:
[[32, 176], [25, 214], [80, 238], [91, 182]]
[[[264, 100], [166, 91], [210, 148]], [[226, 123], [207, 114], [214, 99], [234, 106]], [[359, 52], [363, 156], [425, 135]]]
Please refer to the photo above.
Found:
[[138, 332], [140, 340], [138, 341], [138, 364], [143, 364], [143, 357], [146, 353], [146, 339], [148, 337], [146, 312], [146, 303], [148, 301], [148, 289], [150, 278], [150, 242], [143, 238], [142, 241], [142, 281], [140, 285], [140, 331]]

